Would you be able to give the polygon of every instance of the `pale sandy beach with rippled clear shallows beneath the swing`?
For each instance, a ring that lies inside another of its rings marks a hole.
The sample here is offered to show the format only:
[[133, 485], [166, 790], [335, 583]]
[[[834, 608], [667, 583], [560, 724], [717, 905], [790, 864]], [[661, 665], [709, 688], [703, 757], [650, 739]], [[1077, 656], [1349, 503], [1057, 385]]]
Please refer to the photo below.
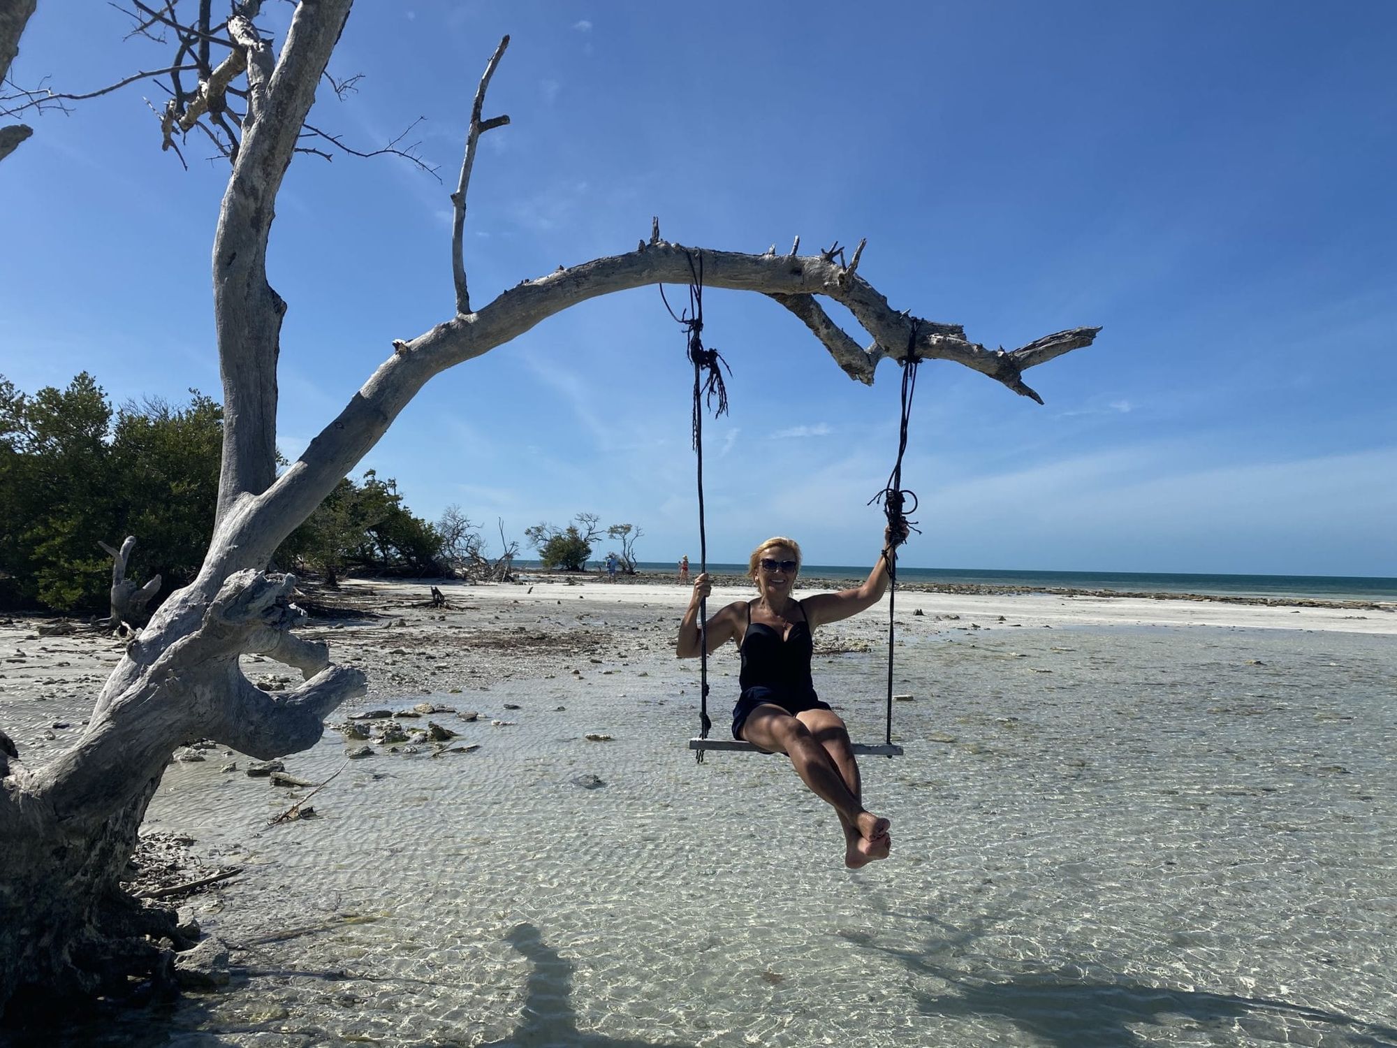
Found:
[[[1397, 1044], [1390, 606], [900, 591], [907, 756], [863, 766], [894, 851], [849, 872], [784, 759], [687, 752], [687, 588], [443, 588], [355, 581], [374, 618], [305, 630], [369, 674], [334, 725], [434, 707], [286, 757], [339, 771], [314, 817], [268, 824], [309, 789], [242, 755], [169, 767], [147, 829], [240, 871], [186, 900], [235, 977], [81, 1042]], [[25, 762], [119, 657], [63, 630], [0, 623]], [[886, 604], [816, 637], [855, 738], [882, 736], [886, 643]], [[711, 682], [726, 736], [735, 651]]]

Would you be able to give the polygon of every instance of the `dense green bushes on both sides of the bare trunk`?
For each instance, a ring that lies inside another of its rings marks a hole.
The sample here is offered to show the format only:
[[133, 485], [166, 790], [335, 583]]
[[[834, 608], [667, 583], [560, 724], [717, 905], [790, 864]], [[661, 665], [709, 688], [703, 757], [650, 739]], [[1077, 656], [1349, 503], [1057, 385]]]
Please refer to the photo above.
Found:
[[[113, 408], [87, 372], [29, 395], [0, 376], [0, 606], [101, 612], [106, 542], [137, 538], [131, 578], [163, 594], [198, 572], [218, 495], [224, 409], [190, 390], [172, 405]], [[402, 504], [393, 479], [345, 478], [277, 551], [284, 569], [335, 585], [349, 572], [446, 574], [443, 537]]]

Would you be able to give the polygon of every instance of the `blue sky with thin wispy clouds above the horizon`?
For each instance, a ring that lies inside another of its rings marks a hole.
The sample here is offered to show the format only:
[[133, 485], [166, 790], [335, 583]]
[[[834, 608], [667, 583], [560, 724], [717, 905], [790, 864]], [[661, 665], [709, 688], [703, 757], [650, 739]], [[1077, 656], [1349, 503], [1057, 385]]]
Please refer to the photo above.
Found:
[[[270, 4], [268, 25], [285, 24]], [[360, 3], [313, 120], [393, 158], [300, 157], [271, 279], [289, 302], [295, 456], [391, 351], [450, 316], [469, 102], [513, 42], [469, 193], [479, 305], [666, 239], [761, 252], [868, 238], [895, 307], [1007, 348], [1046, 407], [923, 366], [904, 563], [1397, 576], [1397, 7], [1387, 3]], [[41, 4], [11, 70], [85, 91], [162, 57]], [[117, 401], [219, 390], [208, 252], [225, 166], [159, 151], [134, 87], [35, 122], [0, 163], [0, 373], [92, 372]], [[835, 310], [837, 312], [837, 307]], [[710, 291], [732, 414], [707, 426], [710, 560], [770, 534], [876, 556], [898, 373], [851, 381], [757, 296]], [[852, 327], [859, 341], [866, 341]], [[697, 559], [690, 372], [654, 289], [585, 303], [439, 376], [362, 468], [496, 535], [592, 511], [643, 560]], [[605, 546], [598, 549], [604, 552]]]

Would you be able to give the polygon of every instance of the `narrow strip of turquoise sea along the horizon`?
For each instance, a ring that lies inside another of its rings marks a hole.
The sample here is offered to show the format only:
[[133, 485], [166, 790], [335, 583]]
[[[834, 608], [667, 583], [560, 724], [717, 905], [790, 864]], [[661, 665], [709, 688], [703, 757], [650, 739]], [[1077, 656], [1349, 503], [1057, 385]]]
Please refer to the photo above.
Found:
[[[673, 572], [672, 563], [641, 562], [643, 572]], [[697, 562], [693, 562], [697, 572]], [[746, 565], [711, 563], [708, 570], [745, 574]], [[869, 566], [806, 565], [807, 577], [863, 578]], [[1330, 601], [1397, 601], [1397, 578], [1317, 574], [1182, 574], [1164, 572], [1034, 572], [970, 567], [898, 567], [900, 583], [985, 585], [1003, 590], [1111, 590], [1194, 592], [1222, 597], [1309, 597]]]

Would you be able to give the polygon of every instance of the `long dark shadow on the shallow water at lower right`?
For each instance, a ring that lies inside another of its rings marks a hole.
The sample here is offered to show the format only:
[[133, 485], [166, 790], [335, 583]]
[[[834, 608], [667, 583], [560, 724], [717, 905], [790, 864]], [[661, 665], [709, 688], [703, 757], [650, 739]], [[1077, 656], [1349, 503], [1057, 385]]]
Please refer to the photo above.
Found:
[[[986, 964], [986, 971], [977, 974], [968, 967], [975, 959], [965, 957], [965, 947], [978, 938], [974, 932], [933, 940], [921, 950], [877, 943], [863, 932], [841, 931], [840, 936], [894, 957], [918, 975], [950, 984], [953, 989], [947, 994], [911, 992], [922, 1014], [1000, 1019], [1032, 1037], [1034, 1042], [1056, 1048], [1140, 1044], [1136, 1028], [1140, 1026], [1161, 1030], [1192, 1026], [1234, 1037], [1323, 1048], [1397, 1048], [1397, 1027], [1285, 1000], [1150, 985], [1070, 966], [1016, 966], [1003, 957], [983, 959], [993, 968]], [[964, 960], [957, 966], [937, 957]]]

